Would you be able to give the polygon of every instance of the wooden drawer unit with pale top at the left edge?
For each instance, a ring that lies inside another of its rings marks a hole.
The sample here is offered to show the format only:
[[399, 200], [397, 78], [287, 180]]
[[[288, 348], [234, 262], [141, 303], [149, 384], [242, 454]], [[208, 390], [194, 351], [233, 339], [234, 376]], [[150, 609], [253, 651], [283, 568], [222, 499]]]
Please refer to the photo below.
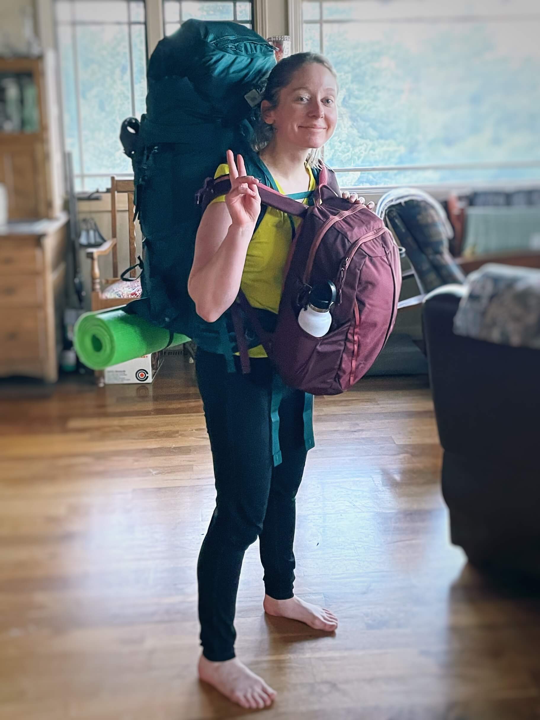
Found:
[[0, 227], [0, 377], [58, 379], [68, 216]]

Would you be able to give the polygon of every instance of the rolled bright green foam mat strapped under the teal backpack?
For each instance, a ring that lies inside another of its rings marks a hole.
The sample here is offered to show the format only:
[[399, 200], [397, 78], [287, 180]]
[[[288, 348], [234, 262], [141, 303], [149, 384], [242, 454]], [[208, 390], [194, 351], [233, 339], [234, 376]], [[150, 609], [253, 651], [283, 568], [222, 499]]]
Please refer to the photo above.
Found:
[[168, 330], [138, 315], [127, 315], [121, 307], [85, 312], [73, 329], [75, 351], [81, 362], [92, 370], [104, 370], [167, 346], [189, 342], [189, 338], [179, 333], [174, 334], [171, 343], [169, 339]]

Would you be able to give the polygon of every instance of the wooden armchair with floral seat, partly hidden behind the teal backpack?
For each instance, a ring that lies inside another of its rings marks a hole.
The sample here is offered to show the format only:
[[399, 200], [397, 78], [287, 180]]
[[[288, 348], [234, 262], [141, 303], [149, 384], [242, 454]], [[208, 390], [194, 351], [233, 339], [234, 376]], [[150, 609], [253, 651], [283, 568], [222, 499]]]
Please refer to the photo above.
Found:
[[[88, 248], [86, 257], [91, 260], [92, 294], [91, 309], [107, 310], [109, 307], [126, 305], [141, 295], [140, 281], [137, 279], [138, 269], [130, 271], [132, 282], [125, 282], [118, 274], [118, 235], [117, 235], [117, 193], [127, 194], [127, 220], [130, 266], [137, 261], [135, 248], [135, 186], [132, 180], [117, 180], [111, 177], [111, 230], [112, 238], [97, 248]], [[112, 278], [102, 279], [99, 272], [99, 258], [112, 255]]]

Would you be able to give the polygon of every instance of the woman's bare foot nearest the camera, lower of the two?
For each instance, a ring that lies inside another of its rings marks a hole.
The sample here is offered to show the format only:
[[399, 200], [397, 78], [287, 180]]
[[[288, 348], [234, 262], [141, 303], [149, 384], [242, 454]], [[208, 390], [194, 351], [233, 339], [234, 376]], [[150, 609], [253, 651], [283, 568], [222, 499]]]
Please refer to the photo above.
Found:
[[237, 657], [224, 662], [212, 662], [202, 655], [199, 660], [199, 678], [243, 708], [262, 710], [269, 707], [276, 697], [276, 691]]

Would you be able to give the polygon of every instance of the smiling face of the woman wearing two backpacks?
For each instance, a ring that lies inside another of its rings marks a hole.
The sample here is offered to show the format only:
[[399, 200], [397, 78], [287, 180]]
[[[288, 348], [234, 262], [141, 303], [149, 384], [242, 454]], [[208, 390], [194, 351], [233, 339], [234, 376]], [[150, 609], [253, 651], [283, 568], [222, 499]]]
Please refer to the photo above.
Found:
[[277, 107], [270, 108], [265, 101], [261, 109], [280, 141], [305, 150], [322, 148], [336, 129], [337, 96], [333, 74], [320, 63], [309, 63], [282, 88]]

